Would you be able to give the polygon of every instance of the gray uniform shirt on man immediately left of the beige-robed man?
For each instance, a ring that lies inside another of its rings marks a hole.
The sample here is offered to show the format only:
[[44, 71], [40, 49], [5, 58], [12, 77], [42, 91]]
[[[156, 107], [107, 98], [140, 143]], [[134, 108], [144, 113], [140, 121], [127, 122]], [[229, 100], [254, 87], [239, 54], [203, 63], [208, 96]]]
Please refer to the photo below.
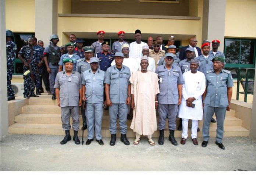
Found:
[[122, 65], [119, 71], [116, 65], [107, 68], [104, 83], [110, 85], [109, 96], [112, 103], [125, 103], [128, 97], [128, 85], [131, 76], [130, 69]]

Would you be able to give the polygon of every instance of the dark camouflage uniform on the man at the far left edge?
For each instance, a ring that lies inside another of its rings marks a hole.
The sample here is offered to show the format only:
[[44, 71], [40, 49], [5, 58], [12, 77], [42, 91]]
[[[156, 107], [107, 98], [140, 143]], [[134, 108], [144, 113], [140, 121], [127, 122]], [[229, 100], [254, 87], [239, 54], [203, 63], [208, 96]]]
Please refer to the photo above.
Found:
[[11, 87], [11, 79], [13, 78], [13, 61], [16, 58], [17, 46], [13, 41], [6, 43], [7, 56], [7, 95], [8, 98], [14, 97], [14, 91]]

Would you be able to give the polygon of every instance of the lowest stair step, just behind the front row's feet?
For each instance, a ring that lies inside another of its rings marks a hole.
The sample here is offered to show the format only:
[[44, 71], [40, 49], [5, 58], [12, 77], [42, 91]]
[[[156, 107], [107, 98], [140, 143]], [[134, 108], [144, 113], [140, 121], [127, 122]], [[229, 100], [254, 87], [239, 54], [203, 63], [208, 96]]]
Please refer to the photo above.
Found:
[[[80, 128], [82, 125], [80, 125]], [[199, 127], [200, 128], [200, 127]], [[202, 128], [198, 132], [198, 137], [202, 137]], [[72, 129], [71, 129], [72, 130]], [[65, 135], [65, 132], [62, 129], [60, 124], [19, 124], [15, 123], [9, 126], [9, 133], [13, 134], [40, 134], [40, 135]], [[182, 131], [175, 131], [175, 137], [181, 137]], [[71, 131], [73, 135], [73, 131]], [[82, 130], [78, 132], [79, 136], [82, 136]], [[169, 136], [168, 129], [164, 131], [165, 137]], [[188, 135], [191, 135], [191, 130], [188, 130]], [[84, 132], [84, 136], [87, 136], [87, 129]], [[110, 137], [109, 127], [102, 127], [102, 137]], [[117, 136], [120, 137], [119, 127]], [[210, 127], [210, 136], [216, 136], [216, 127]], [[249, 136], [249, 130], [243, 128], [242, 126], [226, 126], [224, 128], [224, 136]], [[135, 133], [127, 128], [127, 137], [135, 137]], [[154, 132], [153, 137], [159, 137], [159, 131]]]

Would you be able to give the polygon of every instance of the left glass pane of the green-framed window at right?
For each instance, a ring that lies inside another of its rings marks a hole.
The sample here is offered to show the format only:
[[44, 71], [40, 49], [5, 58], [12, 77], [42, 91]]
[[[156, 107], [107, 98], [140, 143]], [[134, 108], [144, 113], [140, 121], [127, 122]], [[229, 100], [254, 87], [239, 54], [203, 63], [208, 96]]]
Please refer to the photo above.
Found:
[[239, 64], [240, 40], [225, 40], [225, 61], [227, 64]]

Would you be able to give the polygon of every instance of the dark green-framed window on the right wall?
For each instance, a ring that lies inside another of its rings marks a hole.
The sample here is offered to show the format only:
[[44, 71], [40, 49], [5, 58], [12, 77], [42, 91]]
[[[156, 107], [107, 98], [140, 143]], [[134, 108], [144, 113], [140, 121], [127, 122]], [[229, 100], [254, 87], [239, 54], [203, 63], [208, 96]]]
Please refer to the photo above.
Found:
[[246, 68], [255, 68], [255, 51], [255, 39], [225, 38], [225, 69], [230, 70], [232, 77], [236, 79], [238, 77], [238, 70], [243, 71]]

